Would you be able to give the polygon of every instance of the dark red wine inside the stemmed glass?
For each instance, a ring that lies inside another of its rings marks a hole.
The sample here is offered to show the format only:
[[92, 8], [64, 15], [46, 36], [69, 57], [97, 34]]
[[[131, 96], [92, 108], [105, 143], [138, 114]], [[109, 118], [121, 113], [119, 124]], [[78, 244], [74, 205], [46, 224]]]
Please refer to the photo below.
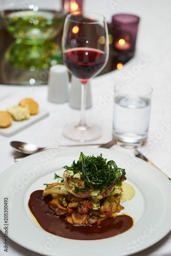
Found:
[[71, 73], [86, 83], [104, 66], [106, 54], [93, 48], [72, 48], [63, 52], [62, 58]]

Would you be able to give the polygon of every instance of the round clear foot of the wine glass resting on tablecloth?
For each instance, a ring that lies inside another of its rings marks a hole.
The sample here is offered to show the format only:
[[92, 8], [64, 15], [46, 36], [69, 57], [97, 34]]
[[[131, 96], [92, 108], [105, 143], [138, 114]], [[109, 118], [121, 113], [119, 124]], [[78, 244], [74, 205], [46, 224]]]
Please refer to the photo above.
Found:
[[86, 142], [100, 138], [102, 136], [102, 130], [96, 124], [81, 126], [71, 123], [64, 127], [63, 136], [74, 141]]

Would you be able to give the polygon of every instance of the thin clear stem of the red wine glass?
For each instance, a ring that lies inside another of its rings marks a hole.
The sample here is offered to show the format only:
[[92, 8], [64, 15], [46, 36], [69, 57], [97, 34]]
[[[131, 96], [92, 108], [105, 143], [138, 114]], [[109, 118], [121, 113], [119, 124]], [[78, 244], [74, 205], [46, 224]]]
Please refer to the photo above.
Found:
[[87, 96], [87, 83], [81, 84], [81, 116], [78, 126], [83, 130], [87, 130], [85, 112], [86, 112], [86, 96]]

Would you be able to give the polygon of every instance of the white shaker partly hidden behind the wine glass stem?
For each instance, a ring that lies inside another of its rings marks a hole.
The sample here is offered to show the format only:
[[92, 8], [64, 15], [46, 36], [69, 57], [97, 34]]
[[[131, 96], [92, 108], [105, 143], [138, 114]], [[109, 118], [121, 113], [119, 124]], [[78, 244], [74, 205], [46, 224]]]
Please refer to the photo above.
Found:
[[[71, 90], [69, 96], [69, 104], [72, 108], [81, 108], [81, 82], [74, 76], [71, 77]], [[87, 84], [86, 108], [92, 106], [90, 81]]]

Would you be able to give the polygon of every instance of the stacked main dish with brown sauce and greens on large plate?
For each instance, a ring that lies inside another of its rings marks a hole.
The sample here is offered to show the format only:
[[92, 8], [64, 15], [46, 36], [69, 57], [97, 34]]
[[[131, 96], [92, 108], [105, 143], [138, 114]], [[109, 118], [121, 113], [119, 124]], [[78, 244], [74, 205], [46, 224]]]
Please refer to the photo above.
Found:
[[[133, 219], [117, 215], [125, 170], [113, 160], [100, 156], [84, 156], [64, 166], [59, 182], [46, 184], [34, 191], [29, 208], [46, 231], [72, 239], [101, 239], [115, 236], [133, 226]], [[66, 229], [66, 226], [68, 227]], [[90, 233], [92, 234], [90, 236]]]

